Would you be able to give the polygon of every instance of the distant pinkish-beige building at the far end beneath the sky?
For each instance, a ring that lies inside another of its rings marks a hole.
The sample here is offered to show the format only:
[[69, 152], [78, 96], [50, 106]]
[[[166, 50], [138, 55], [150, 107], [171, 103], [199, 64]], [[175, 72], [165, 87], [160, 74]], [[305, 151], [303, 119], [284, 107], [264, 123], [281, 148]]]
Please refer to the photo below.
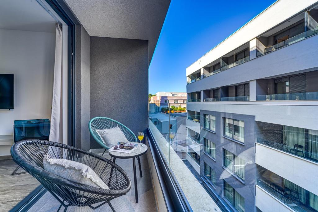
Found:
[[[156, 92], [149, 101], [149, 113], [159, 113], [163, 107], [187, 107], [187, 93], [184, 92]], [[172, 104], [171, 104], [172, 103]]]

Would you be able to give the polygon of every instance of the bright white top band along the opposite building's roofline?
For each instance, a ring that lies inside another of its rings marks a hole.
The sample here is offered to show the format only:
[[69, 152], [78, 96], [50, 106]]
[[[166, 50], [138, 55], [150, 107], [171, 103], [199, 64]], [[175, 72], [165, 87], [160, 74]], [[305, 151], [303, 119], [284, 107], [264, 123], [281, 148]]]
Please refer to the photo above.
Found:
[[187, 68], [187, 76], [303, 11], [316, 0], [279, 0]]

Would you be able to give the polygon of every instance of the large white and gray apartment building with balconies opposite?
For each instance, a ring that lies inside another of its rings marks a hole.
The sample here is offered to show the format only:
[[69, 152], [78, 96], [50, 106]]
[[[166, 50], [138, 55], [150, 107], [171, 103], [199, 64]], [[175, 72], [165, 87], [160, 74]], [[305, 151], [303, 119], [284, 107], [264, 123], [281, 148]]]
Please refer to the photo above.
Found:
[[226, 209], [318, 211], [317, 34], [317, 1], [279, 0], [186, 69], [192, 166]]

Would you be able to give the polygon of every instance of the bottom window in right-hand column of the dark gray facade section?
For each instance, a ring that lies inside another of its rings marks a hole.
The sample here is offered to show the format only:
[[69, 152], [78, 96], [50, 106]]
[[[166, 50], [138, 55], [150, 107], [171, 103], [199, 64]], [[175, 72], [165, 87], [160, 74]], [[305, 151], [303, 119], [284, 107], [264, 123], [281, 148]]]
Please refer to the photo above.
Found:
[[245, 200], [230, 184], [223, 180], [223, 195], [227, 201], [239, 212], [244, 212]]

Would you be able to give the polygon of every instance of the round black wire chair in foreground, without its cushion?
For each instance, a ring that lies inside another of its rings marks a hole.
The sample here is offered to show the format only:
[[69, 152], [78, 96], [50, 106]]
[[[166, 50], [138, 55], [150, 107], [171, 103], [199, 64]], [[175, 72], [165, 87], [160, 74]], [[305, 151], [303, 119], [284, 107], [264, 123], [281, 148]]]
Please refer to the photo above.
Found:
[[[108, 189], [76, 183], [43, 168], [43, 158], [67, 159], [86, 164], [107, 184]], [[131, 182], [128, 175], [118, 165], [97, 154], [78, 149], [69, 145], [45, 140], [22, 140], [11, 147], [13, 160], [35, 177], [58, 201], [64, 212], [69, 206], [97, 209], [110, 200], [125, 195], [130, 190]], [[116, 171], [116, 176], [113, 172]], [[97, 206], [93, 204], [100, 203]]]

